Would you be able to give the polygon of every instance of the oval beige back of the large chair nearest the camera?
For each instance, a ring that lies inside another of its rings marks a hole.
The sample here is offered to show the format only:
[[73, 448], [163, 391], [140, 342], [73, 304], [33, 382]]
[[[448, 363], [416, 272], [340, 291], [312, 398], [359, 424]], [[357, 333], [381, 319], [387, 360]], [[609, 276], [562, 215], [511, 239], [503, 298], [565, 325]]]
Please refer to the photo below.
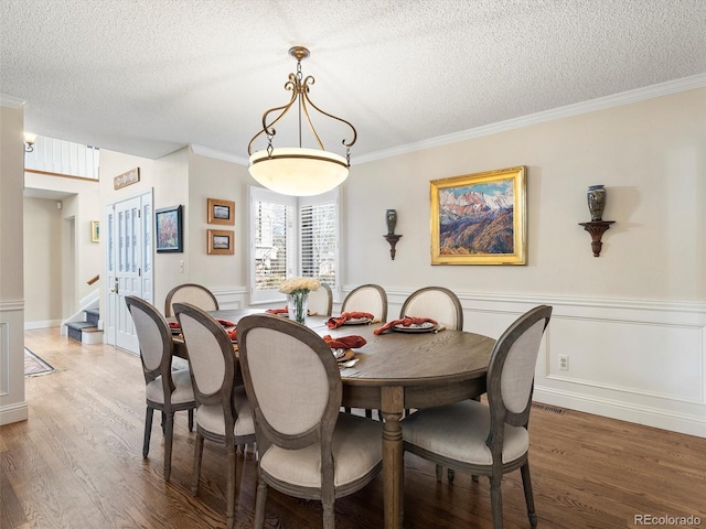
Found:
[[238, 348], [261, 453], [271, 444], [298, 450], [320, 442], [322, 464], [332, 461], [342, 384], [321, 336], [282, 317], [254, 314], [238, 322]]

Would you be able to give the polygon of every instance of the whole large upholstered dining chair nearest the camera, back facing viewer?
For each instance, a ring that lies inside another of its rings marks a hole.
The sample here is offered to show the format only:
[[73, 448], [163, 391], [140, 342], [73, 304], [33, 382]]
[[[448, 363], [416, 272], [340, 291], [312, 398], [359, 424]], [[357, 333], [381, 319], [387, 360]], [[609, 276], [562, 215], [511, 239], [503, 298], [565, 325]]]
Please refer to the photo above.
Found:
[[238, 345], [259, 454], [255, 527], [264, 525], [269, 486], [320, 500], [323, 527], [333, 529], [335, 499], [360, 490], [382, 468], [382, 424], [339, 411], [339, 367], [310, 328], [249, 315], [238, 323]]

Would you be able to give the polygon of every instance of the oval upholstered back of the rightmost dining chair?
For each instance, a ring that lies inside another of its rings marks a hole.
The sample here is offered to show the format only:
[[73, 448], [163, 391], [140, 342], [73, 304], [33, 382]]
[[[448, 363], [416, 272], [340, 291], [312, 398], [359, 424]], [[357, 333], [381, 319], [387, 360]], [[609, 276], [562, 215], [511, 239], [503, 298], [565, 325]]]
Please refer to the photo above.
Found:
[[495, 343], [488, 368], [491, 435], [502, 439], [500, 430], [505, 422], [514, 427], [527, 425], [535, 365], [550, 317], [550, 306], [536, 306], [520, 316]]

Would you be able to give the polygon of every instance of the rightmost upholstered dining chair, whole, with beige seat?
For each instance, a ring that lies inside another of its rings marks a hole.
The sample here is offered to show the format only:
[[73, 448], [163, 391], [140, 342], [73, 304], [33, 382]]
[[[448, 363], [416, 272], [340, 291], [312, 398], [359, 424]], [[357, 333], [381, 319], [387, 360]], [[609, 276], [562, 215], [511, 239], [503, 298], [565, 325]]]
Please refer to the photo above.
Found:
[[536, 306], [498, 339], [488, 368], [488, 404], [464, 400], [420, 410], [402, 422], [406, 452], [489, 477], [494, 529], [503, 527], [502, 476], [517, 468], [530, 523], [537, 526], [527, 460], [527, 423], [535, 364], [550, 317], [550, 306]]

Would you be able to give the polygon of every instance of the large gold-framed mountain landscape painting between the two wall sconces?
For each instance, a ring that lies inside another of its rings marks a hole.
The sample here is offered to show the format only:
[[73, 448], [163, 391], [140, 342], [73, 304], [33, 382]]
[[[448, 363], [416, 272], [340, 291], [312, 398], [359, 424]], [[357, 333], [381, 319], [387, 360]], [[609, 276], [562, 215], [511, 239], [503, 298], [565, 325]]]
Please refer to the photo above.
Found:
[[431, 264], [526, 264], [526, 168], [430, 183]]

